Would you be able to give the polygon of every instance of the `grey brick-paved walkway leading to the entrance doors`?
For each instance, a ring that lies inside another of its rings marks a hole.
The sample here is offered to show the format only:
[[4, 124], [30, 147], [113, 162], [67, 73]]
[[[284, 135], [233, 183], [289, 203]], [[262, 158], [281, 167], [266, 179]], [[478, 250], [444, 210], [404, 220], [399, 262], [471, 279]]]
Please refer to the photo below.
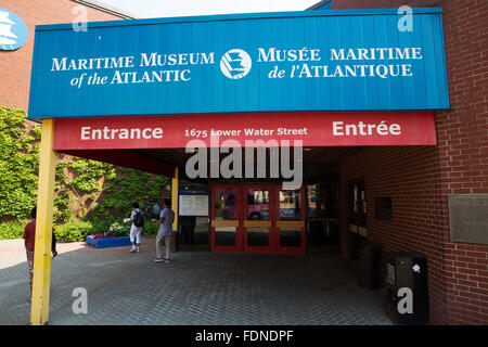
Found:
[[[383, 291], [360, 288], [338, 255], [180, 252], [157, 264], [154, 241], [139, 254], [59, 244], [49, 324], [391, 324]], [[77, 287], [88, 293], [86, 314], [73, 312]], [[28, 324], [28, 296], [23, 241], [0, 241], [0, 324]]]

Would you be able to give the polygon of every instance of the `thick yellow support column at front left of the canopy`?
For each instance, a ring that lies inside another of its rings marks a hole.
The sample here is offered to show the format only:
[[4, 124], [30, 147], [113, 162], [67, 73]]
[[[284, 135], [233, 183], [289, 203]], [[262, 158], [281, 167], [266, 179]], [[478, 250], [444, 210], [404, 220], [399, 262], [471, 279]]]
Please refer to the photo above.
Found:
[[37, 196], [36, 244], [34, 248], [33, 300], [30, 324], [43, 325], [49, 319], [51, 282], [51, 237], [54, 202], [56, 154], [52, 150], [54, 120], [42, 121], [39, 153], [39, 187]]

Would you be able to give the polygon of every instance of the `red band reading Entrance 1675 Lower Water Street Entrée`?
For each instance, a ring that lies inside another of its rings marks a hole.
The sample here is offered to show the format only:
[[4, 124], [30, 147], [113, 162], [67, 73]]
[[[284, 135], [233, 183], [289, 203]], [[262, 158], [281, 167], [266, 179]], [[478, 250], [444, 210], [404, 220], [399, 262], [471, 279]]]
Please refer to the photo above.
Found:
[[435, 144], [434, 112], [374, 112], [56, 119], [53, 145], [121, 150]]

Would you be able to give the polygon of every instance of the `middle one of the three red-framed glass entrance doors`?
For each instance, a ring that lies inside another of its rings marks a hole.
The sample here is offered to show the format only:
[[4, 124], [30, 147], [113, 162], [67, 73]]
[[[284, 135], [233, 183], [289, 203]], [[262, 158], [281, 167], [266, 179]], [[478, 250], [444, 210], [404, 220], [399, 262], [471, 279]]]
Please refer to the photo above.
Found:
[[272, 187], [244, 187], [244, 252], [272, 252]]

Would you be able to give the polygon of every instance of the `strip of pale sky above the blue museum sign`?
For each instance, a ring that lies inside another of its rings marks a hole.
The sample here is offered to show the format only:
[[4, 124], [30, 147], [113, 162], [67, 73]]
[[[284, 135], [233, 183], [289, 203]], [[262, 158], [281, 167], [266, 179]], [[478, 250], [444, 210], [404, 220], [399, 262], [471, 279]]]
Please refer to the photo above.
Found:
[[303, 11], [320, 0], [99, 0], [138, 17]]

